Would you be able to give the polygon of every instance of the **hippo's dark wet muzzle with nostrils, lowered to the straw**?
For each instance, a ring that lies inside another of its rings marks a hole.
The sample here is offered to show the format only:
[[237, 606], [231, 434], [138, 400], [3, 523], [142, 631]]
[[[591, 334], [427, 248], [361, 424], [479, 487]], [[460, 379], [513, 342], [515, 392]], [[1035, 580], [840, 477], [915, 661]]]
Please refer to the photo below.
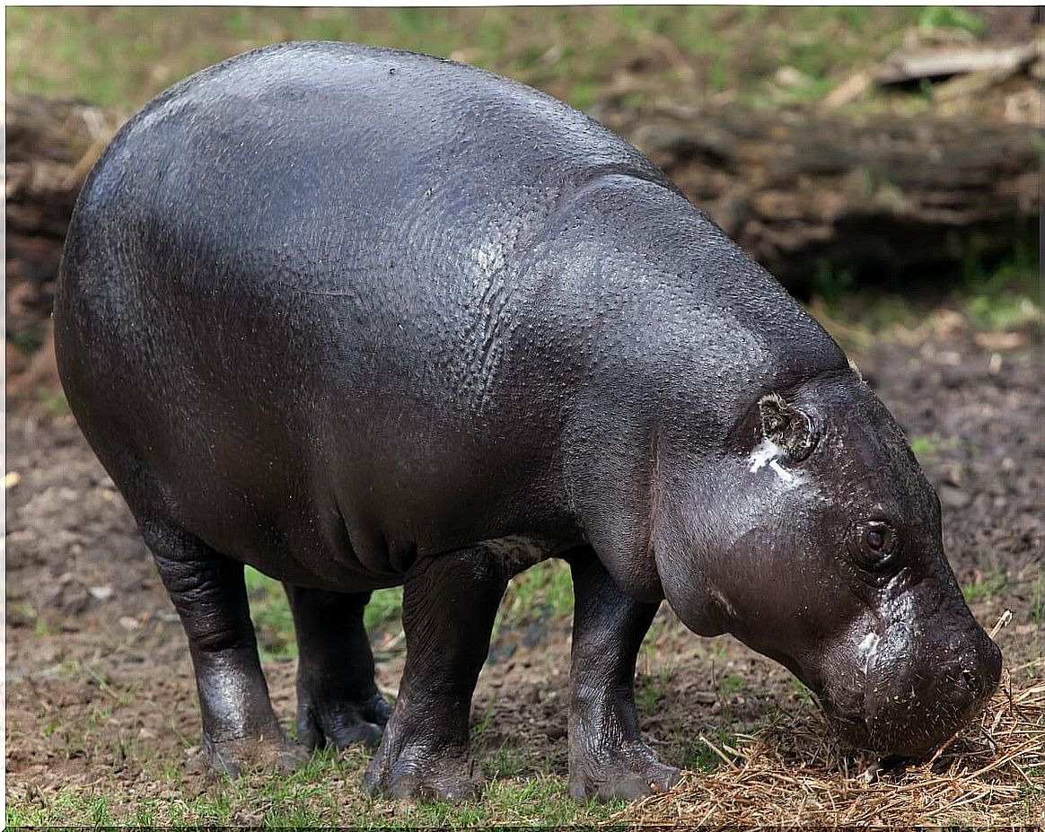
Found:
[[924, 757], [974, 719], [998, 687], [1001, 651], [970, 623], [974, 629], [951, 657], [939, 645], [911, 650], [903, 639], [883, 639], [885, 649], [867, 671], [865, 732], [843, 736], [863, 734], [855, 744], [885, 755]]

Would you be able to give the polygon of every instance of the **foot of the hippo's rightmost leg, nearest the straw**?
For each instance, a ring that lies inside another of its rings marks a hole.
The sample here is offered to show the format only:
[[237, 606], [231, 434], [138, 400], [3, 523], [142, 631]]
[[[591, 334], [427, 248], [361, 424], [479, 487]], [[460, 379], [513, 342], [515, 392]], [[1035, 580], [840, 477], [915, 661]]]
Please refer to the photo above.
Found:
[[571, 760], [570, 796], [575, 801], [588, 798], [637, 801], [668, 791], [681, 776], [677, 768], [657, 760], [645, 744], [632, 742], [612, 752]]

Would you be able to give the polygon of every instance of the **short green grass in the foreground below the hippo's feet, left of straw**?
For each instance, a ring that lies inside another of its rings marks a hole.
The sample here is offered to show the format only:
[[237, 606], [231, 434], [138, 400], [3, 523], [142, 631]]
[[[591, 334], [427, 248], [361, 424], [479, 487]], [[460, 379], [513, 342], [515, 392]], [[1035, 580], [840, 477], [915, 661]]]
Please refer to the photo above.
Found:
[[[80, 668], [83, 672], [84, 668]], [[52, 713], [42, 719], [50, 753], [49, 765], [63, 760], [99, 761], [98, 777], [89, 783], [63, 783], [56, 790], [19, 779], [8, 792], [6, 823], [49, 826], [76, 823], [92, 826], [421, 826], [462, 828], [493, 821], [591, 823], [604, 819], [616, 806], [576, 804], [565, 784], [542, 761], [502, 746], [480, 762], [487, 778], [482, 803], [461, 807], [409, 805], [371, 800], [359, 788], [370, 752], [354, 747], [339, 754], [316, 753], [300, 770], [272, 777], [251, 771], [240, 780], [206, 783], [186, 777], [183, 762], [169, 743], [158, 750], [155, 741], [129, 738], [120, 729], [137, 713], [132, 686], [115, 689], [109, 697], [88, 704], [74, 715]], [[76, 727], [70, 730], [73, 720]], [[178, 745], [194, 741], [171, 725]], [[140, 770], [129, 788], [125, 779], [109, 773], [114, 767]], [[8, 781], [10, 785], [10, 781]]]

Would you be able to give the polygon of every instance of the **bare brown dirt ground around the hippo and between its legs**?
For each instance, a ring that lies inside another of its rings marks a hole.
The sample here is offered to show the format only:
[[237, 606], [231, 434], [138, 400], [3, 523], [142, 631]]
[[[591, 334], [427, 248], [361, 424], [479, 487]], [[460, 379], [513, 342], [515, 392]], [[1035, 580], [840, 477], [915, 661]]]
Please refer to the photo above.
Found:
[[[915, 440], [939, 489], [948, 555], [1009, 667], [1041, 656], [1043, 512], [1041, 346], [975, 332], [954, 311], [927, 315], [853, 352]], [[11, 402], [6, 423], [7, 803], [46, 805], [69, 786], [115, 784], [125, 801], [199, 791], [199, 716], [188, 651], [150, 558], [112, 482], [68, 414]], [[1038, 609], [1037, 618], [1034, 610]], [[509, 633], [506, 639], [516, 639]], [[568, 623], [536, 644], [495, 645], [473, 718], [480, 759], [526, 748], [565, 775]], [[401, 652], [381, 653], [397, 687]], [[294, 711], [293, 662], [265, 667], [277, 712]], [[789, 674], [730, 639], [661, 620], [640, 658], [644, 729], [661, 755], [693, 765], [697, 737], [741, 730], [804, 694]], [[165, 775], [165, 776], [164, 776]]]

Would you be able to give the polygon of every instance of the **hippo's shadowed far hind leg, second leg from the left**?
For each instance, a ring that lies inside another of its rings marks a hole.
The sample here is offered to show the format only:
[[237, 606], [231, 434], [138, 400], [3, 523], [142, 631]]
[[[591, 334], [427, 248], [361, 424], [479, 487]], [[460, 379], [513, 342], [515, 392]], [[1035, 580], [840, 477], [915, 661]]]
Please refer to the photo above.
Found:
[[298, 741], [376, 745], [392, 709], [374, 685], [374, 657], [363, 626], [370, 593], [285, 585], [298, 639]]

